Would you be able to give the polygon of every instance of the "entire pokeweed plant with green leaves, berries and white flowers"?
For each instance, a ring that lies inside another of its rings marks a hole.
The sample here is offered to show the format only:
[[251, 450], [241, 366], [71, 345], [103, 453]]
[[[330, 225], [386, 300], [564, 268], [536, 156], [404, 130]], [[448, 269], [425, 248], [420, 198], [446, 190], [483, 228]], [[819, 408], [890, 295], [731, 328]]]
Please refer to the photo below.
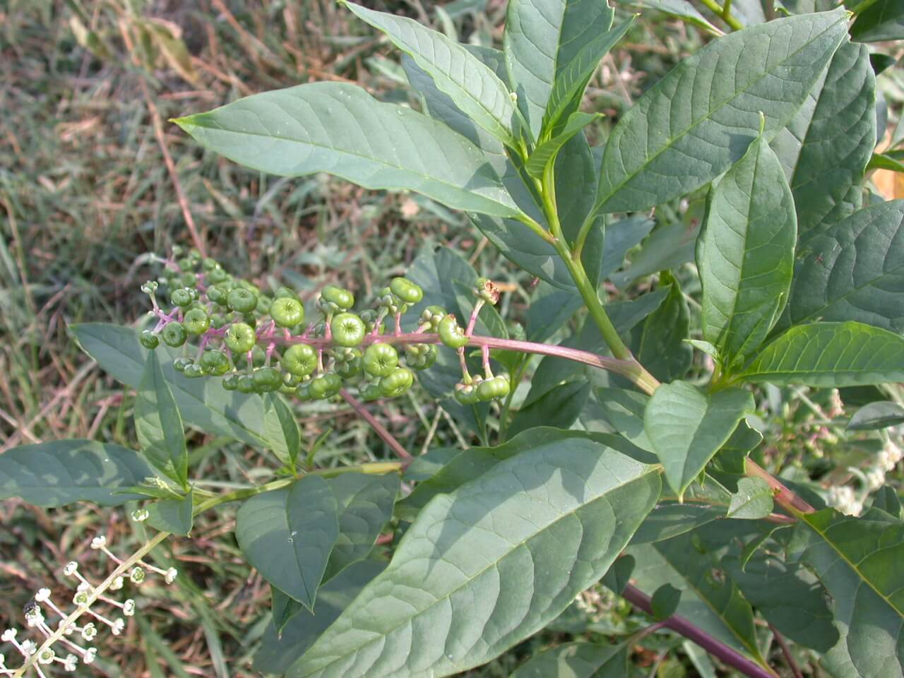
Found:
[[[79, 618], [122, 608], [107, 591], [143, 573], [151, 548], [239, 502], [237, 541], [273, 594], [261, 672], [459, 673], [602, 581], [655, 624], [617, 645], [541, 652], [516, 675], [633, 674], [632, 644], [660, 628], [749, 676], [782, 662], [802, 675], [801, 658], [833, 676], [901, 675], [904, 523], [885, 481], [904, 422], [904, 202], [864, 185], [880, 157], [874, 64], [888, 60], [862, 43], [904, 37], [897, 2], [758, 13], [736, 0], [733, 14], [730, 0], [705, 0], [709, 18], [638, 4], [715, 37], [598, 147], [585, 89], [635, 18], [599, 0], [511, 0], [502, 51], [347, 2], [403, 52], [420, 112], [318, 82], [175, 121], [263, 172], [325, 172], [462, 210], [542, 282], [523, 335], [510, 335], [498, 289], [452, 250], [422, 253], [367, 309], [339, 287], [306, 308], [196, 251], [163, 259], [143, 288], [143, 332], [72, 327], [137, 390], [140, 450], [65, 440], [0, 457], [0, 497], [147, 500], [134, 517], [158, 532], [123, 560], [96, 538], [116, 570], [81, 579], [68, 616], [42, 589], [25, 610], [41, 642], [7, 631], [23, 661], [0, 659], [0, 674], [87, 661], [67, 638], [85, 636]], [[632, 301], [600, 297], [605, 280], [654, 274]], [[573, 318], [577, 332], [546, 343]], [[360, 402], [415, 379], [482, 447], [412, 458]], [[400, 458], [315, 466], [296, 403], [323, 399], [349, 402]], [[195, 485], [186, 424], [272, 450], [276, 479], [225, 494]], [[856, 450], [842, 469], [856, 491], [810, 478], [816, 443], [839, 438]], [[388, 561], [373, 548], [386, 530], [398, 540]], [[64, 645], [74, 652], [60, 659]]]

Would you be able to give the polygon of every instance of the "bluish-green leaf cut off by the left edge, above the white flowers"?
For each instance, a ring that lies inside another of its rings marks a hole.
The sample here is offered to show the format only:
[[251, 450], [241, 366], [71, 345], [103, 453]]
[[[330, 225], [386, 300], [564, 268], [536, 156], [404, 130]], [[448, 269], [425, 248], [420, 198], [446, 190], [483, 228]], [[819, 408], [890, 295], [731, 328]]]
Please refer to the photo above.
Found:
[[93, 440], [52, 440], [0, 454], [0, 499], [20, 497], [54, 508], [74, 502], [119, 506], [142, 494], [128, 492], [155, 470], [137, 452]]

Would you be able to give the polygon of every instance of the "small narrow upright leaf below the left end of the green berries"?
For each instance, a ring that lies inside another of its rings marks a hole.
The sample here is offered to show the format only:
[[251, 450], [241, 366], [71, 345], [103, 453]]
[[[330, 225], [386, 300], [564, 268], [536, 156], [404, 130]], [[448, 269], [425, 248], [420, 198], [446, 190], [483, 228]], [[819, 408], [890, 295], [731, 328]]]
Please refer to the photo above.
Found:
[[141, 452], [151, 464], [187, 488], [188, 450], [182, 417], [155, 351], [147, 353], [145, 371], [137, 388], [135, 432]]

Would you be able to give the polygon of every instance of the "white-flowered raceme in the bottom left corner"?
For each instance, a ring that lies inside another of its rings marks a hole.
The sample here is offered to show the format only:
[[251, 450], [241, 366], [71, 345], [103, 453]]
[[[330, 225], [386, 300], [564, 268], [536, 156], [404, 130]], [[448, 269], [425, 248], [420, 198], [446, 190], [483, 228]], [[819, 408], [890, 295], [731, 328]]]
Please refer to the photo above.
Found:
[[[140, 522], [148, 515], [145, 509], [138, 509], [132, 519]], [[62, 564], [61, 580], [70, 590], [60, 585], [38, 589], [23, 607], [24, 627], [13, 626], [0, 634], [0, 642], [12, 645], [21, 659], [11, 665], [0, 654], [0, 675], [33, 671], [39, 678], [50, 678], [60, 671], [74, 673], [81, 664], [93, 664], [99, 646], [108, 643], [109, 636], [122, 634], [127, 619], [135, 616], [138, 587], [148, 573], [160, 576], [167, 585], [178, 576], [175, 568], [163, 570], [142, 560], [156, 541], [122, 559], [110, 551], [104, 535], [94, 537], [90, 551], [98, 552], [100, 564], [108, 570], [99, 577], [86, 571], [97, 568], [85, 568], [85, 559]]]

